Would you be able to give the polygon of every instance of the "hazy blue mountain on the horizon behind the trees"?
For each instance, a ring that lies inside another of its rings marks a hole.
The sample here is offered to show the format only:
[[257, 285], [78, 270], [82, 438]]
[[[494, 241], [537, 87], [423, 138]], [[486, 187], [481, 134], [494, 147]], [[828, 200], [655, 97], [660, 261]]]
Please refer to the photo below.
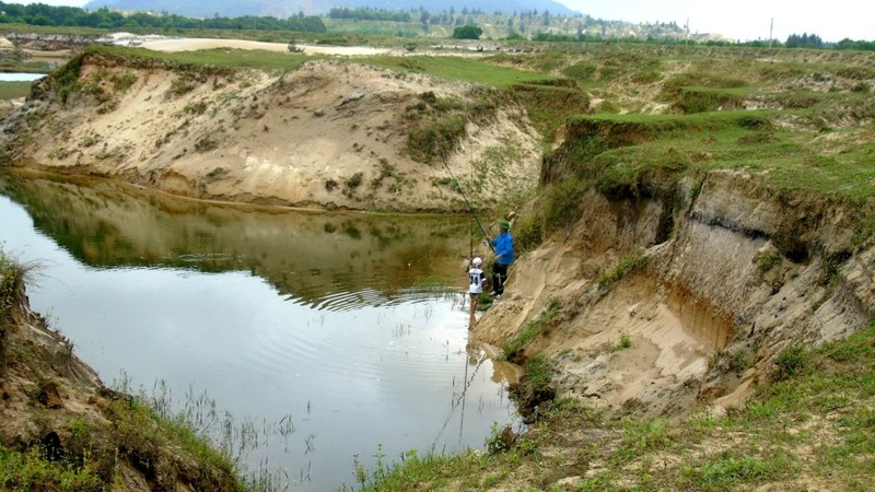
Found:
[[456, 12], [477, 9], [483, 13], [514, 12], [538, 13], [549, 11], [553, 15], [573, 15], [574, 11], [553, 0], [91, 0], [88, 10], [109, 8], [122, 11], [166, 12], [191, 17], [237, 17], [244, 15], [272, 15], [285, 19], [303, 12], [320, 15], [335, 7], [370, 7], [390, 11], [425, 9], [439, 13], [454, 9]]

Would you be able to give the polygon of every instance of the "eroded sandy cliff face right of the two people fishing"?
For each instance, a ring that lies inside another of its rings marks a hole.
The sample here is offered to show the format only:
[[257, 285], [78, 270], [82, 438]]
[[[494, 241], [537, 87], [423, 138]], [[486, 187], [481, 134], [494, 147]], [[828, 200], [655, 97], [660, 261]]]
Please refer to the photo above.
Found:
[[[475, 336], [501, 345], [560, 305], [524, 353], [557, 361], [560, 395], [608, 414], [739, 403], [781, 350], [875, 318], [873, 248], [853, 238], [862, 212], [760, 181], [718, 171], [661, 197], [591, 191], [573, 227], [520, 258]], [[643, 266], [599, 285], [635, 255]], [[623, 335], [630, 347], [617, 350]]]

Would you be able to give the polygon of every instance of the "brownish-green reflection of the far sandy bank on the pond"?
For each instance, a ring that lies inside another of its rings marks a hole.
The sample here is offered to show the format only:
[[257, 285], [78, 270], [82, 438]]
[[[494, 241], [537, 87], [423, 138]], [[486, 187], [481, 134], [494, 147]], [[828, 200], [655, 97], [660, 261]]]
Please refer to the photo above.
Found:
[[289, 300], [327, 309], [458, 283], [469, 234], [459, 216], [231, 207], [33, 173], [0, 173], [0, 194], [89, 266], [247, 271]]

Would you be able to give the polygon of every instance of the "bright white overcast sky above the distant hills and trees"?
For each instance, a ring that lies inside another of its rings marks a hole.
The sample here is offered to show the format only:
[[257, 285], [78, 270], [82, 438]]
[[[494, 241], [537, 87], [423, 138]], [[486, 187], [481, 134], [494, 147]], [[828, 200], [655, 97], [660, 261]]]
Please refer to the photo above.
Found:
[[[82, 7], [88, 0], [43, 0], [49, 5]], [[467, 0], [455, 0], [465, 3]], [[791, 34], [816, 34], [825, 42], [875, 40], [875, 0], [557, 0], [596, 19], [672, 22], [691, 33], [715, 33], [737, 40], [784, 42]], [[22, 2], [30, 3], [30, 2]]]

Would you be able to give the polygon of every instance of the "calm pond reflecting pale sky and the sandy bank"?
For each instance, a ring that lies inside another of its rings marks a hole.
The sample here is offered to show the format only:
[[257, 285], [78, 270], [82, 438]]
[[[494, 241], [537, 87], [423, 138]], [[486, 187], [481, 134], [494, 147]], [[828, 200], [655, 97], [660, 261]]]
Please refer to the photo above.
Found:
[[378, 453], [482, 448], [513, 421], [500, 366], [468, 347], [469, 235], [460, 216], [0, 173], [0, 247], [40, 265], [32, 307], [108, 385], [180, 410], [206, 398], [256, 429], [245, 462], [289, 490], [354, 487], [353, 462], [373, 470]]

